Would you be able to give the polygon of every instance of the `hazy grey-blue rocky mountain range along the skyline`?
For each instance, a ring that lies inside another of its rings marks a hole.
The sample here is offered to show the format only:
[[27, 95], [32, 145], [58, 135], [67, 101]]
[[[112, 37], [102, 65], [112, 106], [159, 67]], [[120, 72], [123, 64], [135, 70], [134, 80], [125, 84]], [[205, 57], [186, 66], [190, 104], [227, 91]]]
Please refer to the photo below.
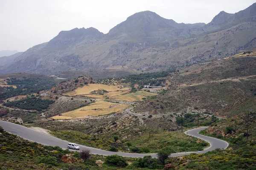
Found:
[[29, 48], [3, 66], [0, 74], [162, 71], [253, 48], [256, 3], [235, 14], [221, 11], [208, 24], [176, 23], [143, 11], [131, 15], [108, 34], [92, 27], [61, 31], [49, 42]]

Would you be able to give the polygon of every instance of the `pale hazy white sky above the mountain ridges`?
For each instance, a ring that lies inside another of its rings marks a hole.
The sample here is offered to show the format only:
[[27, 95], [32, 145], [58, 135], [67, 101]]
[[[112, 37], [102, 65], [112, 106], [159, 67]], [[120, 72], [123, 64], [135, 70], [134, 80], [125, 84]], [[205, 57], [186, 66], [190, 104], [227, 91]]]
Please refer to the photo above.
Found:
[[26, 51], [62, 30], [94, 27], [103, 33], [140, 11], [177, 23], [209, 23], [256, 0], [0, 0], [0, 50]]

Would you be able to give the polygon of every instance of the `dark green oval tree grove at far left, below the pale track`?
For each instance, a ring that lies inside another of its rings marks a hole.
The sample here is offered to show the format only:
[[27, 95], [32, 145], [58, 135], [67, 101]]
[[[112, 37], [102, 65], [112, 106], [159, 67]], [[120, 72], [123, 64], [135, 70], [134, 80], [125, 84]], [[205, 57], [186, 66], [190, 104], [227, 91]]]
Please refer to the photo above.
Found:
[[26, 110], [37, 110], [42, 111], [43, 109], [47, 109], [49, 105], [54, 103], [55, 101], [49, 99], [41, 99], [35, 96], [27, 97], [26, 99], [21, 99], [13, 102], [4, 103], [4, 106], [7, 107], [15, 107]]

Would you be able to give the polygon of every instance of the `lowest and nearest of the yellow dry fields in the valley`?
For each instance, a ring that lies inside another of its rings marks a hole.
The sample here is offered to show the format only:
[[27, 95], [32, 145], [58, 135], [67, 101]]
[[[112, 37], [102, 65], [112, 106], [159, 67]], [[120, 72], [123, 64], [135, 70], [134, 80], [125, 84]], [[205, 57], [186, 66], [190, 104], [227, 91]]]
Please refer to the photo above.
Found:
[[122, 111], [123, 109], [127, 108], [129, 105], [126, 104], [118, 104], [118, 103], [111, 103], [111, 102], [104, 102], [98, 101], [92, 103], [88, 106], [83, 108], [76, 109], [74, 111], [69, 111], [66, 113], [62, 113], [63, 116], [70, 116], [73, 118], [84, 118], [85, 116], [99, 116], [104, 115], [112, 112]]

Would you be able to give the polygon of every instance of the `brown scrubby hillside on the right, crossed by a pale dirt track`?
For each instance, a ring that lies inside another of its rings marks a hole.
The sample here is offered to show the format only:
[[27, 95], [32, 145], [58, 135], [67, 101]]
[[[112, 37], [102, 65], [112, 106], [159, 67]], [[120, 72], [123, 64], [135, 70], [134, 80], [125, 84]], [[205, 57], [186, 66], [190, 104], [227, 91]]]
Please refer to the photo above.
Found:
[[[143, 101], [135, 111], [210, 112], [232, 116], [255, 108], [256, 52], [182, 68], [164, 77], [165, 94]], [[160, 107], [161, 106], [161, 107]]]

